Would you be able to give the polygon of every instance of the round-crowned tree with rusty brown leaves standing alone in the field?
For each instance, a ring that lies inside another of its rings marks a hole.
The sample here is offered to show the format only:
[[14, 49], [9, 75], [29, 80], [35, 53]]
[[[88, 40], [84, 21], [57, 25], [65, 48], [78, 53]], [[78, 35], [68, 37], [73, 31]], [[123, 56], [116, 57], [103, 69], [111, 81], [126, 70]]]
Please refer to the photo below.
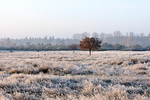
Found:
[[80, 49], [88, 50], [89, 55], [91, 55], [91, 51], [98, 50], [101, 47], [102, 41], [99, 38], [94, 37], [86, 37], [82, 41], [80, 41]]

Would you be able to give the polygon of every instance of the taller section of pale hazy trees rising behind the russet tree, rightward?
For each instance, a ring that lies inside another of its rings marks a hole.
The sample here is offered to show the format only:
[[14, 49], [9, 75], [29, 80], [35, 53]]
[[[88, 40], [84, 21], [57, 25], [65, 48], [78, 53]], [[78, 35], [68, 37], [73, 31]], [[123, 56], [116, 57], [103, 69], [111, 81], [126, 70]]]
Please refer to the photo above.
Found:
[[89, 34], [84, 32], [82, 34], [74, 34], [73, 39], [78, 40], [84, 37], [97, 37], [103, 41], [103, 43], [108, 44], [120, 44], [126, 47], [135, 46], [135, 45], [142, 45], [143, 47], [150, 46], [150, 33], [144, 35], [144, 33], [124, 33], [122, 34], [120, 31], [115, 31], [113, 33], [92, 33]]

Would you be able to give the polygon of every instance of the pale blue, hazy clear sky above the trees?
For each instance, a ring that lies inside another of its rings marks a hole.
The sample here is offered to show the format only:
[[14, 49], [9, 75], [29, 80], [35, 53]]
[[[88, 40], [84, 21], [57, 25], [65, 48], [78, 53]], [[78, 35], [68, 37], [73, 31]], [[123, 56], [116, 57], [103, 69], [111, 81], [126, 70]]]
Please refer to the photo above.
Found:
[[0, 38], [150, 32], [150, 0], [0, 0]]

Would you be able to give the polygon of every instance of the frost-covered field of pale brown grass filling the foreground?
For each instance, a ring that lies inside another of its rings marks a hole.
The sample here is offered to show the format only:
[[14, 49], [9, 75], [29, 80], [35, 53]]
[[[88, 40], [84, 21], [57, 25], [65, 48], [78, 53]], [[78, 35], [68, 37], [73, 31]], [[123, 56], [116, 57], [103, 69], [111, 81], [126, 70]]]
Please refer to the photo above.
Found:
[[150, 52], [0, 53], [0, 100], [150, 100]]

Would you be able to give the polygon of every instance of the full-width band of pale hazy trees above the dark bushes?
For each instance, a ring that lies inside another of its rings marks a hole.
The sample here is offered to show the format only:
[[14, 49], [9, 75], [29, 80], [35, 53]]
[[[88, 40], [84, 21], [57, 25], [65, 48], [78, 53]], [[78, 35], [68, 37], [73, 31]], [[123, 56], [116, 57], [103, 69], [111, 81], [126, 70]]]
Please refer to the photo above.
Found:
[[79, 44], [80, 41], [85, 37], [96, 37], [102, 40], [103, 43], [108, 44], [120, 44], [126, 47], [141, 45], [143, 47], [150, 46], [150, 34], [144, 35], [143, 33], [133, 33], [129, 32], [126, 34], [122, 34], [120, 31], [115, 31], [114, 33], [92, 33], [89, 34], [87, 32], [73, 34], [72, 38], [55, 38], [55, 37], [44, 37], [44, 38], [24, 38], [24, 39], [10, 39], [3, 38], [0, 39], [0, 47], [10, 47], [10, 46], [30, 46], [30, 45], [47, 45], [50, 44], [52, 46], [55, 45], [71, 45], [71, 44]]

